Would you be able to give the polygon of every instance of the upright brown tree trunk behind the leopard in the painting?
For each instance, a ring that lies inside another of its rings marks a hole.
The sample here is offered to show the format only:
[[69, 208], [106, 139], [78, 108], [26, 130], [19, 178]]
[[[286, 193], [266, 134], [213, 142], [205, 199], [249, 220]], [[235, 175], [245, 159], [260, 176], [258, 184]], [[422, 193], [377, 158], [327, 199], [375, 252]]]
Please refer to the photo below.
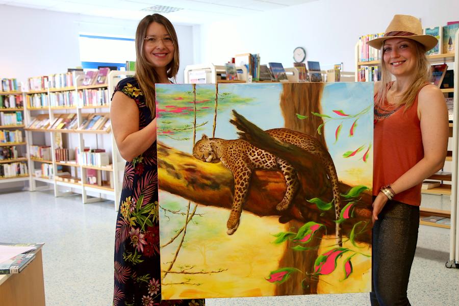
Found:
[[[322, 118], [312, 114], [312, 112], [321, 113], [320, 98], [322, 90], [323, 83], [284, 84], [283, 93], [281, 94], [281, 110], [287, 129], [314, 136], [327, 148], [323, 133], [319, 135], [317, 132], [317, 128], [323, 123]], [[296, 114], [308, 116], [308, 118], [299, 119]], [[303, 222], [292, 220], [287, 223], [287, 228], [299, 228], [303, 224]], [[316, 245], [311, 244], [309, 246], [317, 246], [320, 241], [320, 239], [313, 240], [311, 243], [316, 242]], [[279, 261], [279, 268], [295, 267], [303, 272], [313, 272], [314, 261], [318, 255], [317, 249], [299, 252], [292, 249], [294, 245], [290, 240], [287, 240], [286, 244], [283, 257]], [[302, 279], [304, 279], [303, 286], [301, 286]], [[317, 281], [305, 278], [305, 275], [300, 273], [292, 274], [287, 282], [276, 287], [276, 295], [311, 293], [317, 293]]]

